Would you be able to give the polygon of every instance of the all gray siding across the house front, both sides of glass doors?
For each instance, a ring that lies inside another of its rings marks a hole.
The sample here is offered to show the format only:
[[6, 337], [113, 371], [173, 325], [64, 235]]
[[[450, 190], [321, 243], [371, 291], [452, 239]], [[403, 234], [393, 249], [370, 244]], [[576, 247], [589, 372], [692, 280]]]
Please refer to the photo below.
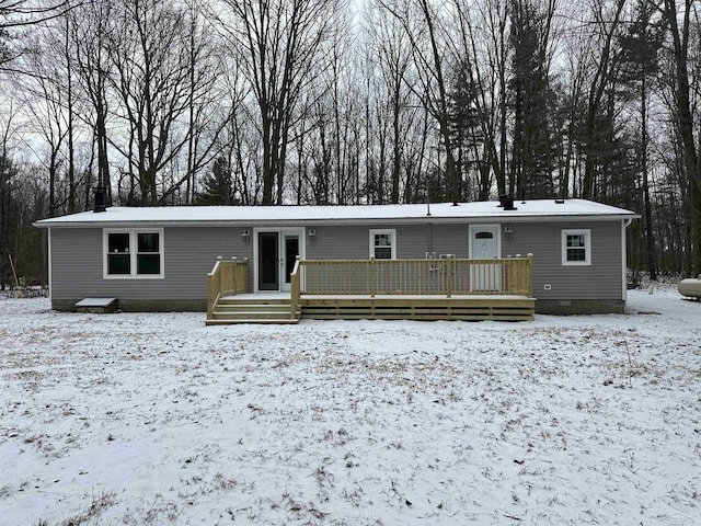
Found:
[[[543, 219], [544, 221], [545, 219]], [[484, 224], [496, 224], [496, 221]], [[623, 296], [621, 222], [510, 222], [513, 233], [502, 232], [502, 256], [533, 254], [533, 296], [542, 300], [620, 300]], [[85, 297], [122, 300], [205, 300], [207, 273], [217, 256], [249, 258], [249, 289], [254, 290], [253, 236], [242, 239], [245, 227], [165, 227], [164, 278], [104, 279], [103, 230], [101, 228], [51, 228], [51, 295], [58, 301]], [[397, 230], [397, 258], [423, 259], [455, 254], [469, 258], [469, 224], [378, 224], [376, 226], [307, 226], [315, 236], [304, 236], [308, 260], [367, 260], [371, 229]], [[562, 265], [562, 230], [591, 231], [591, 265]], [[551, 290], [544, 290], [549, 284]]]

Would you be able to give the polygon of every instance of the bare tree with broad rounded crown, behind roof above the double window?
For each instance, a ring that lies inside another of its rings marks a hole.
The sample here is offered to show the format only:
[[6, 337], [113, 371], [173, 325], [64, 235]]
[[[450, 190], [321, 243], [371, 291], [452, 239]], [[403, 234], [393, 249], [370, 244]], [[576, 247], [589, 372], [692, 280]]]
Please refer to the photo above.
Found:
[[[119, 99], [117, 117], [128, 132], [124, 140], [112, 136], [110, 144], [127, 161], [124, 192], [130, 203], [172, 201], [211, 159], [221, 129], [210, 129], [208, 146], [199, 142], [216, 71], [198, 47], [204, 36], [193, 27], [191, 14], [161, 0], [128, 0], [115, 13], [108, 47], [115, 75], [110, 82]], [[181, 155], [186, 157], [184, 173], [179, 170]]]

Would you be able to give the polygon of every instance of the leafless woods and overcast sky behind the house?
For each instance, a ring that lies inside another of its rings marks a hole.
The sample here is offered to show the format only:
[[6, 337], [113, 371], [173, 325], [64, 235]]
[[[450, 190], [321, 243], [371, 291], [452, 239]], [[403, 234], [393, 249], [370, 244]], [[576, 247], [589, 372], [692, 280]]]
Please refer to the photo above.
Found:
[[[698, 0], [0, 0], [0, 286], [107, 204], [595, 199], [701, 273]], [[10, 258], [11, 256], [11, 258]]]

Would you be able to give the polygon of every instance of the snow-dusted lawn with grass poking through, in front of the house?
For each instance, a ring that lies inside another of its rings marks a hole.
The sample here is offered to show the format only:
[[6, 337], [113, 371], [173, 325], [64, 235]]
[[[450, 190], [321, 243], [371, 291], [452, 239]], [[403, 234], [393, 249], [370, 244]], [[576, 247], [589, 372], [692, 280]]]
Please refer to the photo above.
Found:
[[701, 523], [701, 302], [533, 322], [0, 298], [0, 524]]

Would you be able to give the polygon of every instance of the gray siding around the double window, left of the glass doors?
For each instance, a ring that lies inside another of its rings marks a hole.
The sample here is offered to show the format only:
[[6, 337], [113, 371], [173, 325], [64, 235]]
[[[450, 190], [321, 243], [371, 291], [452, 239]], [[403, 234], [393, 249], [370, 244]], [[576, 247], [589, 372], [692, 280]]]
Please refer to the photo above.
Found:
[[[146, 227], [148, 228], [148, 227]], [[163, 231], [164, 277], [103, 278], [102, 229], [51, 229], [51, 298], [80, 300], [105, 296], [123, 300], [206, 299], [207, 273], [217, 256], [249, 258], [252, 242], [242, 228], [170, 227]], [[252, 279], [252, 270], [249, 272]]]

